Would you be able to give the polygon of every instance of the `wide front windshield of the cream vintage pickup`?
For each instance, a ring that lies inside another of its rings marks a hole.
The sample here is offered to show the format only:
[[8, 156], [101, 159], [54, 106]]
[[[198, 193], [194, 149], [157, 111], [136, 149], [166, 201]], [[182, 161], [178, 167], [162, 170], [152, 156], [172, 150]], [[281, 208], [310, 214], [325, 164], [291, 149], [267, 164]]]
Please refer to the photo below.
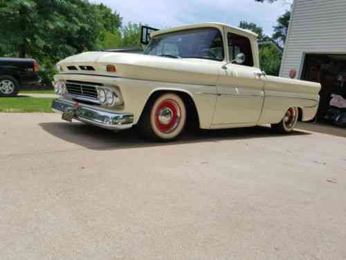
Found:
[[144, 53], [170, 58], [224, 60], [224, 43], [217, 28], [197, 28], [158, 35], [152, 38]]

